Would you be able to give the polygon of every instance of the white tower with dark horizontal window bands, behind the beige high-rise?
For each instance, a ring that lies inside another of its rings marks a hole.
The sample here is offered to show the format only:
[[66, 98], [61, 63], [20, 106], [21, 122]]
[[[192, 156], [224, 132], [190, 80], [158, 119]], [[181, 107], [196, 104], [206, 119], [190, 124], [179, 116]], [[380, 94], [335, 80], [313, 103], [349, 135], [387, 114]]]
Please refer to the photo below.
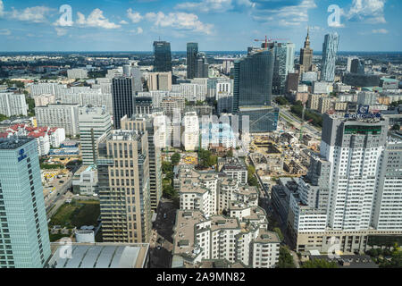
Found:
[[112, 130], [111, 116], [105, 107], [81, 107], [79, 125], [82, 164], [96, 164], [96, 141], [104, 134], [109, 135]]

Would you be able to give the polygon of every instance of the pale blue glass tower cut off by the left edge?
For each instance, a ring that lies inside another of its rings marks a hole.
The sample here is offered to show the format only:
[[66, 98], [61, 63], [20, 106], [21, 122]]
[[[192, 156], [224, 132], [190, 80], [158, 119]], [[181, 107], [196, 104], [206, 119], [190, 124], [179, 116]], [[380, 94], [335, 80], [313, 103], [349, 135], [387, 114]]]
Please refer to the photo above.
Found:
[[0, 268], [41, 268], [50, 257], [35, 139], [0, 139]]

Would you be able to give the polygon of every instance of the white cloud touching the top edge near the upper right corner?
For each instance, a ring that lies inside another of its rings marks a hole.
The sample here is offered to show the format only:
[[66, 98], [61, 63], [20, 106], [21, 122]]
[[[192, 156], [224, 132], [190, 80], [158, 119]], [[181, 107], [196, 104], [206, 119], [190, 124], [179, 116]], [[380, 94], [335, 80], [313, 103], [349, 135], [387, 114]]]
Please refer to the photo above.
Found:
[[348, 13], [349, 21], [365, 21], [368, 23], [385, 23], [384, 5], [387, 0], [353, 0]]

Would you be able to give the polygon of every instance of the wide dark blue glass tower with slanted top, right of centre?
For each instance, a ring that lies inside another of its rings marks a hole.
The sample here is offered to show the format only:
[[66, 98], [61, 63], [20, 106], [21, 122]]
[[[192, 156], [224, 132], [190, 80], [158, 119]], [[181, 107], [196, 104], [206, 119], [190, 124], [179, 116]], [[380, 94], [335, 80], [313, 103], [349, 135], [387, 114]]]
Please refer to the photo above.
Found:
[[274, 48], [258, 49], [235, 62], [233, 113], [239, 106], [271, 105]]

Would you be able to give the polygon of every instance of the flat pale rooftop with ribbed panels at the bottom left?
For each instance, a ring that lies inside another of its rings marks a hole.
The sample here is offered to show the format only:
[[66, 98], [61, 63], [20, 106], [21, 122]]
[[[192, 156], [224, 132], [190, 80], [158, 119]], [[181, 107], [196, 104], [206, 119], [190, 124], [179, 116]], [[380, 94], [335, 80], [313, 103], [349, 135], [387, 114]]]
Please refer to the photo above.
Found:
[[[51, 243], [49, 268], [144, 268], [147, 243], [72, 243], [71, 256], [66, 245]], [[68, 254], [68, 253], [67, 253]]]

